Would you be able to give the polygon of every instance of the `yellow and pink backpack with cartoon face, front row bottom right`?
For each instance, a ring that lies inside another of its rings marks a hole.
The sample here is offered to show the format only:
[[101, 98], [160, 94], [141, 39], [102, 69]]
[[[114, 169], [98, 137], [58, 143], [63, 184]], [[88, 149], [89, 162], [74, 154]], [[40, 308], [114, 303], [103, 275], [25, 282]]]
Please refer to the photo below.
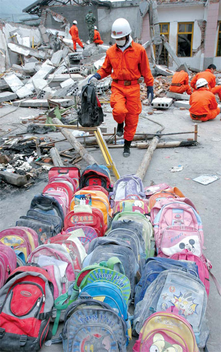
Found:
[[170, 307], [147, 318], [133, 352], [198, 352], [191, 325], [177, 311], [176, 307]]

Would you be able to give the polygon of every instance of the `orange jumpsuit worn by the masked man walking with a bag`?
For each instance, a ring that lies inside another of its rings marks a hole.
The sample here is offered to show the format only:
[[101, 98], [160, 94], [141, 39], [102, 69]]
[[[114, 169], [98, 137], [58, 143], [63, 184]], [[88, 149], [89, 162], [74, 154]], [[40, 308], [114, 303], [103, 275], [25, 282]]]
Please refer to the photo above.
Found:
[[145, 49], [132, 41], [122, 52], [114, 44], [107, 50], [105, 62], [97, 73], [101, 78], [111, 75], [113, 118], [118, 124], [125, 122], [124, 139], [133, 140], [142, 111], [138, 79], [142, 75], [147, 86], [153, 86], [154, 81]]

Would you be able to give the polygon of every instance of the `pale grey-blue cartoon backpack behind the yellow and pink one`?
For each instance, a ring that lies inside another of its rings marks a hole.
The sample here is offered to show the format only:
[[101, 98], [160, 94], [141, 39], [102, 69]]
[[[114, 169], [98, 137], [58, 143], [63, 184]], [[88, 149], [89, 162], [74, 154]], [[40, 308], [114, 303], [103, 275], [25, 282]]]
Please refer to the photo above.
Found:
[[198, 347], [204, 347], [209, 336], [205, 319], [207, 294], [200, 279], [181, 270], [161, 272], [147, 288], [134, 311], [134, 329], [140, 333], [144, 321], [153, 312], [175, 306], [178, 314], [193, 327]]

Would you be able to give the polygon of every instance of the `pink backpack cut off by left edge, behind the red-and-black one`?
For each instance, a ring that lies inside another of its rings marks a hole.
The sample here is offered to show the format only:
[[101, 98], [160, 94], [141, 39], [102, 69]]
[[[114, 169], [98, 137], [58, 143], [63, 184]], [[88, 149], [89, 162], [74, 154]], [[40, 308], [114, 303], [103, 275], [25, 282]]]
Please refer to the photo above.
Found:
[[17, 258], [15, 251], [0, 243], [0, 288], [4, 285], [8, 276], [16, 269]]

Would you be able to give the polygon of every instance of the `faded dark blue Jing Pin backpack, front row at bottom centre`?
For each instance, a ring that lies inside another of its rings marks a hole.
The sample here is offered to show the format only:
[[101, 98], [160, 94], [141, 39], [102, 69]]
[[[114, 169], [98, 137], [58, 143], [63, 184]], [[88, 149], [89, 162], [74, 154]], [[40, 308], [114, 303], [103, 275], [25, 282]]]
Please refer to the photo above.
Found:
[[126, 332], [126, 322], [109, 304], [83, 296], [66, 310], [61, 333], [63, 349], [126, 352]]

